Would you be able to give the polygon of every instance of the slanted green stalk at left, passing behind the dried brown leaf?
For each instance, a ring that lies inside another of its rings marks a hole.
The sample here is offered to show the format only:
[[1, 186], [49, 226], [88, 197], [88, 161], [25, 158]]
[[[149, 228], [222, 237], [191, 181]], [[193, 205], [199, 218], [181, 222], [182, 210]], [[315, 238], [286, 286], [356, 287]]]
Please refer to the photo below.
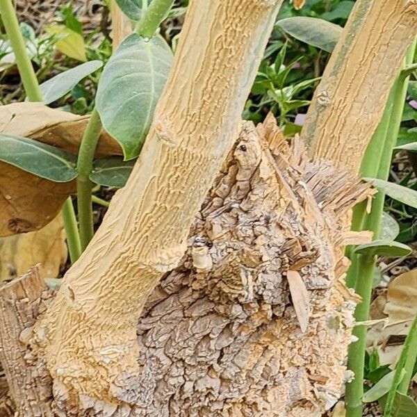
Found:
[[[38, 79], [31, 60], [26, 51], [26, 45], [22, 31], [19, 27], [19, 21], [15, 13], [15, 8], [11, 0], [0, 0], [0, 14], [10, 45], [15, 53], [17, 68], [19, 69], [20, 78], [29, 101], [42, 101], [42, 92], [40, 91]], [[74, 206], [72, 206], [71, 197], [67, 199], [62, 210], [65, 234], [70, 250], [70, 259], [74, 263], [81, 254], [79, 245], [79, 234], [76, 225]]]

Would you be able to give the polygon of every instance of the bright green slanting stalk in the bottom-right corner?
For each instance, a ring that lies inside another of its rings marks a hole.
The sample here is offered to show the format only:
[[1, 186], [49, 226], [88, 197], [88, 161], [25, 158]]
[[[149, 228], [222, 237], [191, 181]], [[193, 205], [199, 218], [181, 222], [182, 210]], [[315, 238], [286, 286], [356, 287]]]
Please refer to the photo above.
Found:
[[[409, 334], [402, 347], [400, 360], [395, 367], [393, 384], [386, 398], [384, 417], [393, 417], [393, 406], [397, 391], [401, 394], [407, 394], [413, 377], [414, 364], [417, 359], [417, 314], [414, 317], [413, 324]], [[404, 373], [405, 372], [405, 373]], [[403, 374], [404, 373], [404, 374]], [[403, 376], [404, 375], [404, 376]]]

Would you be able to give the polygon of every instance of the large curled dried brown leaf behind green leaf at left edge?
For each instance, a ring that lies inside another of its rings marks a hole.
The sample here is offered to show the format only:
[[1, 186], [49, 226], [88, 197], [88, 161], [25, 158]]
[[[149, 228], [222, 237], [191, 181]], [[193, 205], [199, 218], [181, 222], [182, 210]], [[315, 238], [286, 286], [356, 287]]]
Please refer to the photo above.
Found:
[[[76, 154], [88, 116], [55, 110], [41, 103], [0, 107], [0, 132], [24, 136]], [[117, 142], [102, 134], [96, 156], [121, 155]], [[0, 162], [0, 236], [39, 230], [56, 217], [75, 182], [54, 183]]]

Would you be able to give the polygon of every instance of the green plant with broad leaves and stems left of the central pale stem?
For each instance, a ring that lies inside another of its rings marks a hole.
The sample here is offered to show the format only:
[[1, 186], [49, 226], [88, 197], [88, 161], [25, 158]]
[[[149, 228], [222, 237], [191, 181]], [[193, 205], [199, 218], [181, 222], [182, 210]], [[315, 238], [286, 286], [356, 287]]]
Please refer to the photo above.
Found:
[[[79, 258], [93, 235], [94, 183], [106, 186], [124, 185], [132, 169], [130, 161], [137, 158], [149, 130], [156, 102], [172, 63], [172, 51], [156, 31], [173, 2], [154, 0], [149, 6], [147, 1], [142, 0], [117, 2], [126, 15], [137, 21], [135, 32], [122, 42], [104, 67], [97, 89], [97, 106], [92, 110], [78, 157], [31, 138], [2, 135], [8, 146], [0, 154], [1, 161], [50, 181], [65, 182], [76, 178], [78, 227], [70, 199], [63, 208], [67, 242], [73, 262]], [[2, 1], [0, 12], [29, 101], [51, 104], [72, 91], [81, 79], [101, 67], [101, 60], [90, 60], [39, 85], [28, 58], [13, 3], [10, 0]], [[81, 61], [87, 60], [85, 45], [80, 43], [83, 42], [81, 24], [74, 17], [72, 6], [61, 8], [60, 17], [62, 24], [49, 28], [54, 35], [58, 35], [56, 47], [67, 56]], [[81, 101], [82, 98], [79, 97]], [[124, 161], [120, 158], [94, 161], [103, 128], [119, 142]], [[25, 147], [31, 148], [36, 158], [20, 157]], [[36, 163], [33, 162], [35, 159]]]

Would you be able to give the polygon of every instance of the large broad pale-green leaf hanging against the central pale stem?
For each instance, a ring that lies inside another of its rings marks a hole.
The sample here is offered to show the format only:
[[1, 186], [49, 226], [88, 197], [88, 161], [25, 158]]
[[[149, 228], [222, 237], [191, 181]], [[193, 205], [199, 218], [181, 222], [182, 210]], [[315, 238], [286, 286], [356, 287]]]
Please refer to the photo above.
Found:
[[124, 159], [138, 156], [172, 64], [172, 51], [160, 37], [133, 33], [110, 58], [97, 89], [104, 129], [120, 143]]

